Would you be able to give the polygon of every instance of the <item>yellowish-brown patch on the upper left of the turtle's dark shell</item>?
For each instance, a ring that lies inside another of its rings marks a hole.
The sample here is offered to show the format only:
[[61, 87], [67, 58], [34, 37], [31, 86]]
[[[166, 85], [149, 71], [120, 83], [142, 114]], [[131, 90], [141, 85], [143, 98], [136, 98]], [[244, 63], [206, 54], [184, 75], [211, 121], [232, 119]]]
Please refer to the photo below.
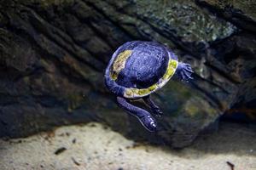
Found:
[[125, 50], [120, 53], [117, 58], [114, 60], [112, 65], [111, 78], [116, 80], [119, 76], [119, 72], [125, 68], [126, 60], [131, 56], [132, 50]]

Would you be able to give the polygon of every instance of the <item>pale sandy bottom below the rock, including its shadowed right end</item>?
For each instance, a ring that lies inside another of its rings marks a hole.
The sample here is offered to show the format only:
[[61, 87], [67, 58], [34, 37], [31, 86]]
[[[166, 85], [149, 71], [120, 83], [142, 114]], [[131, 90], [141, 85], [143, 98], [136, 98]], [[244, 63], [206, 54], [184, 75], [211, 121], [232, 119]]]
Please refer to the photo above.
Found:
[[99, 123], [0, 139], [0, 169], [256, 170], [255, 127], [222, 123], [183, 150], [137, 144]]

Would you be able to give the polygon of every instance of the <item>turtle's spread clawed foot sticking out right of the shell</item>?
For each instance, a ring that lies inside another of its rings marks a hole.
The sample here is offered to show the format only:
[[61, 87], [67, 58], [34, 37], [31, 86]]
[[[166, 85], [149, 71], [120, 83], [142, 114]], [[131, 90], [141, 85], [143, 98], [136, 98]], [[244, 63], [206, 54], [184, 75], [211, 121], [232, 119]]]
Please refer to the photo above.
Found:
[[187, 63], [179, 62], [177, 65], [176, 74], [183, 81], [188, 81], [189, 79], [193, 79], [191, 77], [192, 71], [191, 66]]

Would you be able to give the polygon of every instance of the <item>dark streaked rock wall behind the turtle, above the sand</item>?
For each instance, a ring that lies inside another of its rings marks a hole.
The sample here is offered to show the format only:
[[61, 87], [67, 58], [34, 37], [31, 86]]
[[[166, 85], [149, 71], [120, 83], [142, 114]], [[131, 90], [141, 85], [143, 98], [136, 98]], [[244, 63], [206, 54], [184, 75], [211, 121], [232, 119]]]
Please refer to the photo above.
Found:
[[[256, 38], [230, 22], [188, 0], [3, 0], [0, 137], [98, 121], [180, 148], [224, 112], [254, 119]], [[154, 94], [165, 114], [159, 133], [121, 111], [103, 83], [113, 51], [136, 39], [166, 43], [195, 70], [193, 82], [171, 80]]]

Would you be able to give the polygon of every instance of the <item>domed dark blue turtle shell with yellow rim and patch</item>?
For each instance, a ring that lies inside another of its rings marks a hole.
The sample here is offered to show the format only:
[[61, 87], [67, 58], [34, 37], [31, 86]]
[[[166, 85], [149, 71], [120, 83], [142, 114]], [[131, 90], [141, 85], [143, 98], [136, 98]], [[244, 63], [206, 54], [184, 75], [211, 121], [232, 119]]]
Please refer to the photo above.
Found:
[[[158, 42], [126, 42], [113, 54], [105, 78], [114, 94], [136, 99], [153, 93], [170, 80], [177, 69], [177, 56]], [[108, 80], [107, 80], [108, 79]]]

